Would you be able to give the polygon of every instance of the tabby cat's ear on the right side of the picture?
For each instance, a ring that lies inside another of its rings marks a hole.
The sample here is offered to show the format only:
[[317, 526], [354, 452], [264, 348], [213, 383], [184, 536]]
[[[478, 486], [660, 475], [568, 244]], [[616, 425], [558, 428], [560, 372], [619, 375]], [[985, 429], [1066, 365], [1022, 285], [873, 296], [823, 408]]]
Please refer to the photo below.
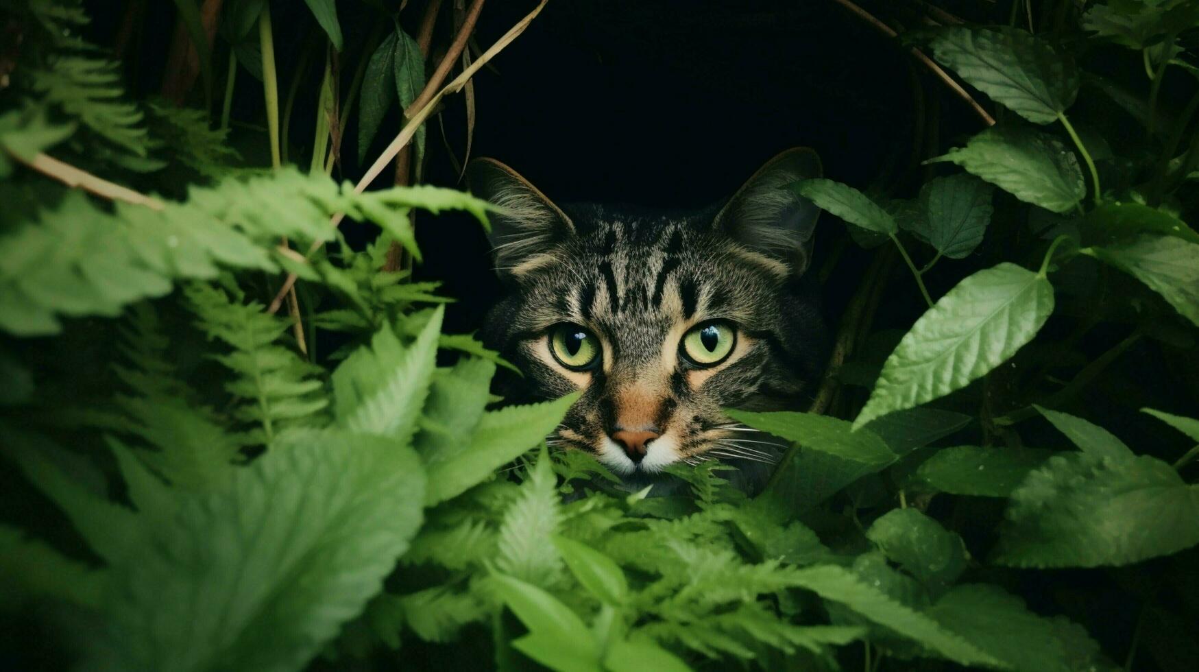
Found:
[[808, 148], [779, 154], [758, 169], [716, 216], [715, 226], [746, 247], [787, 264], [794, 275], [812, 260], [820, 209], [788, 187], [819, 178], [820, 157]]

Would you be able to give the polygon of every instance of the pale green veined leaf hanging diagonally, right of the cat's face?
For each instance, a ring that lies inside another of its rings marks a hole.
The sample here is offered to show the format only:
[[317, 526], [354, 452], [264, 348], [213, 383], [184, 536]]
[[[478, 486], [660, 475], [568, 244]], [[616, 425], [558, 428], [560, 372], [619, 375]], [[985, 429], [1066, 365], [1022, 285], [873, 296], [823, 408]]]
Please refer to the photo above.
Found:
[[981, 378], [1032, 340], [1053, 304], [1049, 281], [1016, 264], [963, 280], [899, 341], [854, 428]]

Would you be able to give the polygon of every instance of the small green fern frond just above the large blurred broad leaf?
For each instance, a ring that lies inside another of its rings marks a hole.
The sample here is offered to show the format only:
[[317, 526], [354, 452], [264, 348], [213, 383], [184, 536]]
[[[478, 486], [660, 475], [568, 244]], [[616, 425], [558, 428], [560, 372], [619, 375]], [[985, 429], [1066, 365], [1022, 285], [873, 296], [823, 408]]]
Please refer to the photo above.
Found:
[[320, 412], [329, 396], [317, 377], [321, 370], [277, 343], [289, 326], [285, 319], [207, 284], [192, 284], [185, 294], [200, 330], [233, 348], [213, 359], [234, 373], [225, 390], [243, 400], [234, 416], [259, 426], [259, 443], [270, 443], [285, 427], [326, 422]]

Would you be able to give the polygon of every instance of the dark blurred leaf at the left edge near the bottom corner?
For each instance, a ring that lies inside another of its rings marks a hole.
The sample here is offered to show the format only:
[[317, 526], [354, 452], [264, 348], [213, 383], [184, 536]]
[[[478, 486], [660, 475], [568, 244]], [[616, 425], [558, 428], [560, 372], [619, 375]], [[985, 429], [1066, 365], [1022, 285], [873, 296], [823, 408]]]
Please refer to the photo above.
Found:
[[0, 614], [34, 600], [100, 607], [104, 574], [67, 558], [22, 530], [0, 524]]

